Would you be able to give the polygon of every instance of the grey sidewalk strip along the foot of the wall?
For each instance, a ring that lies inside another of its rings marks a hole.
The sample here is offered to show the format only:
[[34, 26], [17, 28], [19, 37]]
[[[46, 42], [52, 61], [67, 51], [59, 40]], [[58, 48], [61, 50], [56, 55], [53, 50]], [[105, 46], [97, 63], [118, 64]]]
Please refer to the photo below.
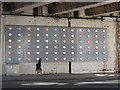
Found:
[[36, 80], [87, 80], [104, 78], [118, 79], [118, 73], [115, 74], [45, 74], [45, 75], [16, 75], [2, 76], [3, 81], [36, 81]]

